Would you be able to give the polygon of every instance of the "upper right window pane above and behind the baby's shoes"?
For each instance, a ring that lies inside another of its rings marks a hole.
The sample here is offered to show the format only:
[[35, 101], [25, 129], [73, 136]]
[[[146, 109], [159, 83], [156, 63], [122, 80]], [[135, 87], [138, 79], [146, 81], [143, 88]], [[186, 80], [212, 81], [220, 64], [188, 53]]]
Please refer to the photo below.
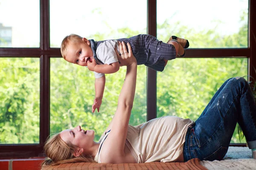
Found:
[[163, 42], [176, 35], [190, 48], [247, 48], [247, 34], [248, 0], [157, 0], [157, 38]]

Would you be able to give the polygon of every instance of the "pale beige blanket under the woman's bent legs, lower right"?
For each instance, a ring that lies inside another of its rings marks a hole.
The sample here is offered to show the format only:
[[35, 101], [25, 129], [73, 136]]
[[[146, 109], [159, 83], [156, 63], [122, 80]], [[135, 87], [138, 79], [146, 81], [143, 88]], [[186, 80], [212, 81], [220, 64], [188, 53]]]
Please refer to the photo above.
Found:
[[208, 170], [256, 170], [256, 159], [248, 147], [229, 147], [221, 161], [200, 161]]

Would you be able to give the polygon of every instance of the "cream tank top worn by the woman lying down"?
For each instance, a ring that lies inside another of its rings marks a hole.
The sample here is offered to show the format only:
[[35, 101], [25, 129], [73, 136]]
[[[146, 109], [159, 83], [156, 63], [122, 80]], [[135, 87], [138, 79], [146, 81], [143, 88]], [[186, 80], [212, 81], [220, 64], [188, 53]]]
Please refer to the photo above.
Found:
[[[176, 161], [183, 152], [188, 127], [194, 123], [190, 119], [182, 119], [177, 116], [163, 116], [141, 125], [128, 125], [125, 144], [137, 163]], [[103, 137], [94, 158], [99, 163], [101, 163], [100, 148], [108, 133]]]

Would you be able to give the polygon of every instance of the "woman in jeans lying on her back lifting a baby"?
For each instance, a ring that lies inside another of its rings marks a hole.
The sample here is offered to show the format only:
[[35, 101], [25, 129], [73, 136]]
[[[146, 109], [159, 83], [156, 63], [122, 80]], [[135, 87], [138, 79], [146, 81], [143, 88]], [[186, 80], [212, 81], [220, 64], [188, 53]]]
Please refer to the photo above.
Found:
[[[45, 144], [50, 158], [43, 166], [62, 163], [141, 163], [150, 161], [221, 160], [238, 122], [256, 159], [256, 105], [247, 81], [228, 79], [193, 122], [164, 116], [137, 126], [128, 125], [134, 101], [137, 63], [128, 44], [119, 43], [119, 61], [127, 66], [116, 113], [94, 142], [94, 131], [80, 126], [56, 134]], [[118, 54], [118, 53], [117, 53]]]

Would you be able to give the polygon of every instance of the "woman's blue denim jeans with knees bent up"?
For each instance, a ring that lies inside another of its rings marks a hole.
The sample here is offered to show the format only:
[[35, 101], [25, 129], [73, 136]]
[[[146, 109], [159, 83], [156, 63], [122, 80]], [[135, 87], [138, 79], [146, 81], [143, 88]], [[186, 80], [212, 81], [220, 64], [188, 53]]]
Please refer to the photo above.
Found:
[[241, 77], [224, 82], [193, 127], [189, 127], [183, 146], [184, 161], [223, 159], [237, 122], [248, 147], [256, 148], [256, 104], [248, 82]]

